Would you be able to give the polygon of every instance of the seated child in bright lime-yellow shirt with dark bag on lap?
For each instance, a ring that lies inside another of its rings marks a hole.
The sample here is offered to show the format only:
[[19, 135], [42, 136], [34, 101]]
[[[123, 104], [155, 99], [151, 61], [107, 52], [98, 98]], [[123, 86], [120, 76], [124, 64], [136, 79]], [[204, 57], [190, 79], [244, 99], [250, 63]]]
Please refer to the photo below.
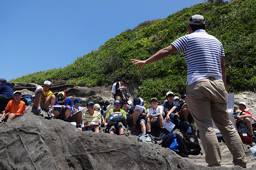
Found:
[[[110, 109], [106, 118], [105, 118], [105, 122], [108, 123], [108, 117], [113, 114], [113, 113], [120, 113], [122, 114], [124, 117], [125, 117], [125, 120], [126, 120], [126, 113], [124, 110], [120, 109], [121, 108], [121, 101], [120, 100], [115, 100], [114, 102], [114, 107], [113, 109]], [[116, 125], [108, 125], [109, 127], [109, 133], [116, 133], [116, 134], [119, 134], [120, 136], [123, 136], [124, 135], [124, 125], [122, 122], [119, 122], [118, 124]], [[116, 129], [118, 129], [118, 132], [116, 131]]]

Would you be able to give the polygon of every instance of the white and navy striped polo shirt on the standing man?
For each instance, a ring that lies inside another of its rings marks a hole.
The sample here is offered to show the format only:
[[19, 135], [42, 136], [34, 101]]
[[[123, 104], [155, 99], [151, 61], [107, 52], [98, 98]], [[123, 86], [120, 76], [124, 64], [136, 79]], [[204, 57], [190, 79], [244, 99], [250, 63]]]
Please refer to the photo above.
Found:
[[225, 56], [222, 43], [205, 30], [178, 38], [172, 45], [183, 51], [187, 67], [188, 85], [201, 79], [214, 77], [222, 80], [221, 56]]

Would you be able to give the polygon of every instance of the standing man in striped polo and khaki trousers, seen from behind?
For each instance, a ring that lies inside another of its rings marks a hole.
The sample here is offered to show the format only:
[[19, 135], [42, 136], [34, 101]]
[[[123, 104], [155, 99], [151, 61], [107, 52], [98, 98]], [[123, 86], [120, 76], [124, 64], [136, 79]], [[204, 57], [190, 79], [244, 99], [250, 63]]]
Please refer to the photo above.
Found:
[[138, 64], [139, 69], [148, 63], [183, 51], [188, 67], [188, 109], [200, 130], [206, 162], [209, 167], [221, 166], [221, 152], [212, 128], [213, 120], [233, 155], [233, 163], [246, 167], [243, 144], [228, 115], [225, 54], [222, 43], [206, 33], [204, 17], [201, 15], [190, 17], [188, 28], [189, 34], [178, 38], [169, 47], [161, 49], [144, 61], [131, 61]]

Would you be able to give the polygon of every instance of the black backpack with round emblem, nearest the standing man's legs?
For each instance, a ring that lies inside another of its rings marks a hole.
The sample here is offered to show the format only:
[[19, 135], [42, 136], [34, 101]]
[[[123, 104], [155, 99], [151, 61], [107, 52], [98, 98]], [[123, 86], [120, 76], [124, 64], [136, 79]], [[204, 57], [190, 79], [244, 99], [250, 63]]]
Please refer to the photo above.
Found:
[[183, 137], [184, 142], [187, 145], [187, 155], [199, 155], [201, 147], [198, 142], [198, 138], [194, 133], [186, 133]]

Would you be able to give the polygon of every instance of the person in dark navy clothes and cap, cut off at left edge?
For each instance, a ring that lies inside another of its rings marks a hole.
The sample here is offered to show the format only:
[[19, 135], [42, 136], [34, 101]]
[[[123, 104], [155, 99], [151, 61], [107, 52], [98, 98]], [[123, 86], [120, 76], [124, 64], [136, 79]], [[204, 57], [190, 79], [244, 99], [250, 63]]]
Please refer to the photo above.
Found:
[[6, 79], [0, 79], [0, 112], [4, 111], [7, 103], [13, 99], [12, 84]]

